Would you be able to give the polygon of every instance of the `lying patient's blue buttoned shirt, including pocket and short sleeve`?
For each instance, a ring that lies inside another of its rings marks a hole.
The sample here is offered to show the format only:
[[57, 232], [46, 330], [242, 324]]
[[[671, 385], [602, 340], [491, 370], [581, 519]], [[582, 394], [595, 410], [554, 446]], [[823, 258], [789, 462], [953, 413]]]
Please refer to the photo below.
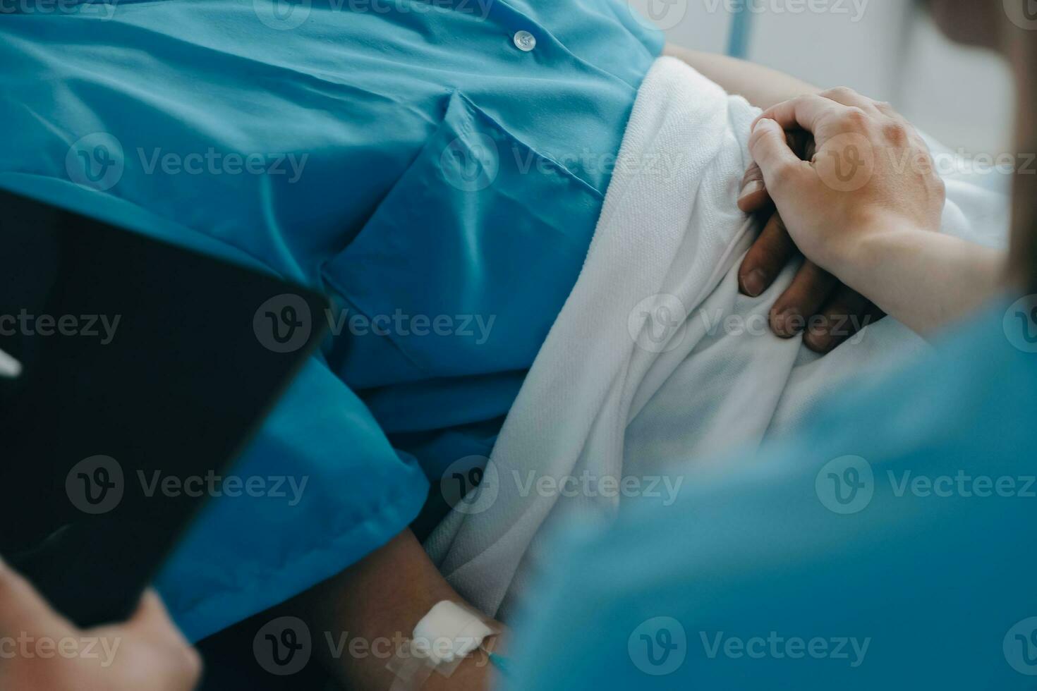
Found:
[[[485, 455], [662, 47], [622, 0], [0, 5], [0, 185], [317, 287], [336, 336], [159, 584], [198, 638], [403, 529]], [[213, 344], [219, 347], [219, 344]]]

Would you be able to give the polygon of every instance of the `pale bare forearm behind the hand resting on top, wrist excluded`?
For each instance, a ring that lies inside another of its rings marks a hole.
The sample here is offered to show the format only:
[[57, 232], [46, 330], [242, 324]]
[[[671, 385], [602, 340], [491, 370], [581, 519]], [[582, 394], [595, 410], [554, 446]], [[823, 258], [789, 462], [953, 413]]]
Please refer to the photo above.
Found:
[[968, 316], [1003, 286], [1006, 255], [927, 230], [890, 230], [830, 270], [918, 334]]

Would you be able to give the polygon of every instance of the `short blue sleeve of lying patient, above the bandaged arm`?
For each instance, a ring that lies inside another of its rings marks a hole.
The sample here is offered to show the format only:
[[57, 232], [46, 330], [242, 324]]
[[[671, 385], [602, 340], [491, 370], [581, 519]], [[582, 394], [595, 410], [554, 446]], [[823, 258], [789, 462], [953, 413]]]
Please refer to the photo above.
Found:
[[[283, 496], [212, 500], [159, 575], [197, 640], [339, 573], [408, 527], [427, 481], [357, 396], [311, 358], [228, 474]], [[272, 558], [276, 556], [276, 558]]]

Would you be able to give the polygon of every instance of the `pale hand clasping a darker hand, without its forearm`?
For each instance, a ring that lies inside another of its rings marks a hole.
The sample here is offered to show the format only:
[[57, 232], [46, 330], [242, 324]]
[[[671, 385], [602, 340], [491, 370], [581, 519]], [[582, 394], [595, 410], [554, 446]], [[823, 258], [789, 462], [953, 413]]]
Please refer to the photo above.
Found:
[[[785, 131], [814, 136], [802, 161]], [[891, 106], [845, 88], [764, 111], [750, 151], [791, 240], [842, 279], [869, 240], [903, 229], [937, 231], [946, 199], [929, 150]]]

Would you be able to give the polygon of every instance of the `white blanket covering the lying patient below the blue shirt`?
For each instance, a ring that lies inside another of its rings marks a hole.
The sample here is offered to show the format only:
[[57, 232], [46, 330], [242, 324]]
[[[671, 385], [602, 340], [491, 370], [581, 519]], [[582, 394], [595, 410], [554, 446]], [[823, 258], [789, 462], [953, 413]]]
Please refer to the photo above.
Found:
[[[757, 114], [673, 58], [645, 79], [580, 279], [474, 502], [426, 544], [486, 613], [505, 618], [550, 558], [549, 527], [608, 519], [632, 493], [672, 501], [681, 464], [757, 445], [847, 376], [927, 347], [893, 319], [823, 358], [778, 339], [767, 313], [794, 267], [764, 295], [739, 295], [737, 268], [758, 229], [735, 200]], [[945, 232], [997, 244], [1004, 196], [948, 188]], [[976, 226], [993, 230], [984, 238]]]

